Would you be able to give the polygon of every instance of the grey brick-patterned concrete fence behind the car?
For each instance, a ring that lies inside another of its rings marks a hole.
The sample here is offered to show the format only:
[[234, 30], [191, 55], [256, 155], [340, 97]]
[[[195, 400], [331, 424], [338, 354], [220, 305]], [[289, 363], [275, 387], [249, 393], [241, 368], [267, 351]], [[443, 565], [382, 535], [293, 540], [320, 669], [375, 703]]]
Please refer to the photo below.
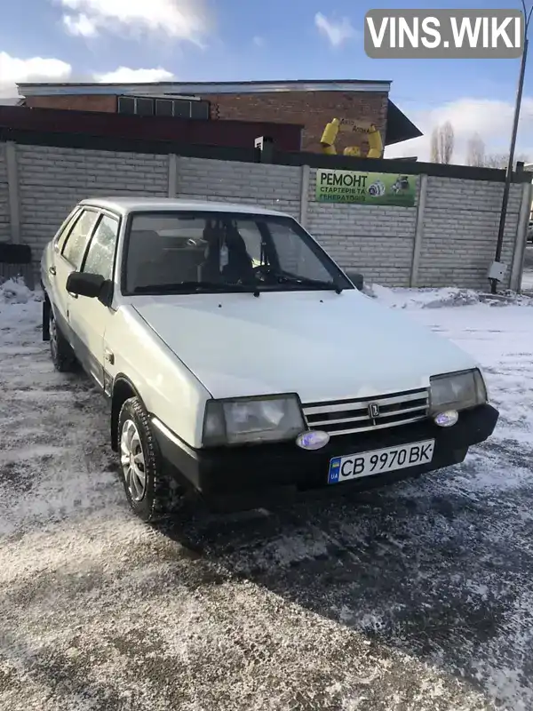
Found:
[[[403, 170], [403, 169], [402, 169]], [[417, 177], [414, 207], [320, 203], [316, 168], [131, 151], [0, 143], [0, 241], [35, 260], [77, 201], [171, 196], [259, 204], [289, 212], [343, 268], [390, 286], [486, 289], [503, 183]], [[502, 260], [520, 287], [531, 185], [513, 184]]]

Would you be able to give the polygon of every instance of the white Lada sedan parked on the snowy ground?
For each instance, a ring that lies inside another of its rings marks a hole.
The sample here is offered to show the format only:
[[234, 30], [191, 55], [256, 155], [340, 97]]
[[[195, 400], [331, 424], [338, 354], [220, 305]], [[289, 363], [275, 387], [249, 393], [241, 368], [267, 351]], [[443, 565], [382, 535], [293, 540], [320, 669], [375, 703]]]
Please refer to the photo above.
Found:
[[355, 288], [290, 215], [84, 200], [41, 267], [53, 363], [108, 398], [145, 521], [187, 489], [252, 507], [392, 483], [462, 461], [496, 426], [479, 365]]

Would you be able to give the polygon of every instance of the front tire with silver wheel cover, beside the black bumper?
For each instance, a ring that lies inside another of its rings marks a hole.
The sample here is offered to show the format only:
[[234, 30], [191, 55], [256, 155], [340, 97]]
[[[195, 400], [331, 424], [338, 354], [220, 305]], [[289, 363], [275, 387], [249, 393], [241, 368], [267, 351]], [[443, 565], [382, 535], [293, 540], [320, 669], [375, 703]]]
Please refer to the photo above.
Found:
[[139, 397], [123, 403], [118, 416], [118, 451], [124, 491], [141, 521], [155, 523], [170, 515], [173, 498], [163, 475], [163, 460], [150, 420]]

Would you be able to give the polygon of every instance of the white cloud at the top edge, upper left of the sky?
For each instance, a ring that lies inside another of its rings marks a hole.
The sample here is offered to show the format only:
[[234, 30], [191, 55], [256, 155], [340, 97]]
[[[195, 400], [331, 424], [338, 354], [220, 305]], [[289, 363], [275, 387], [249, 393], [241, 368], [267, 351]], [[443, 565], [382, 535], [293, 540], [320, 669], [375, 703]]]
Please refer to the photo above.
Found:
[[74, 35], [157, 33], [202, 45], [210, 26], [203, 0], [56, 0]]

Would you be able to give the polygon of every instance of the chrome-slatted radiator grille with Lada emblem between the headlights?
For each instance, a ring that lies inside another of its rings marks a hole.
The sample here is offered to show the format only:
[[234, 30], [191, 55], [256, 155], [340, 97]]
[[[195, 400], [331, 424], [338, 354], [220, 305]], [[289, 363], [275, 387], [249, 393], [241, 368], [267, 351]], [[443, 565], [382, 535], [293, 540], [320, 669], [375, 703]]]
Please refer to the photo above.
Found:
[[334, 435], [349, 435], [398, 427], [426, 419], [429, 393], [424, 389], [357, 400], [334, 400], [303, 405], [307, 426]]

